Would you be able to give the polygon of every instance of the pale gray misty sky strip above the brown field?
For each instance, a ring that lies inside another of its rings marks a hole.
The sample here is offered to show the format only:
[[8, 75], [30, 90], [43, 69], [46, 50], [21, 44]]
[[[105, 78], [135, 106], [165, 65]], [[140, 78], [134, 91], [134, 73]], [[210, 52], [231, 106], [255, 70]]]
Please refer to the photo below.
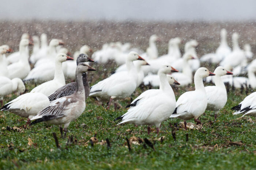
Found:
[[256, 0], [0, 0], [0, 19], [256, 20]]

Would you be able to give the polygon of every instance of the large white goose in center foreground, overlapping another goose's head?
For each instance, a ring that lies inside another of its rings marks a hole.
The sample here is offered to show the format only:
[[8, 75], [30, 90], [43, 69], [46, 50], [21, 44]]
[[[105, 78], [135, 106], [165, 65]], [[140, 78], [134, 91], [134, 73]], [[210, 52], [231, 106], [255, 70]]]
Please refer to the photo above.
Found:
[[[158, 134], [162, 121], [168, 119], [176, 107], [175, 95], [166, 76], [171, 72], [177, 72], [177, 70], [170, 65], [162, 66], [158, 71], [159, 89], [147, 90], [133, 100], [127, 106], [130, 107], [129, 110], [115, 119], [121, 119], [118, 124], [148, 125], [148, 134], [150, 134], [150, 127], [155, 125]], [[172, 76], [171, 79], [172, 83], [179, 84]]]

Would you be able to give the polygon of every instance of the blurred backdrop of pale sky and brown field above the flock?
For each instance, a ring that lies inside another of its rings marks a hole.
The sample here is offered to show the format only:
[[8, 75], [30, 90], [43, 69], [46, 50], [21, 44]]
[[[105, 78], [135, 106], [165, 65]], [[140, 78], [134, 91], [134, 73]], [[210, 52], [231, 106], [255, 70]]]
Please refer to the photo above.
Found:
[[61, 38], [73, 52], [83, 44], [98, 50], [110, 41], [146, 50], [149, 36], [157, 34], [159, 55], [167, 52], [170, 38], [179, 36], [199, 41], [201, 56], [216, 50], [219, 31], [226, 28], [230, 46], [231, 34], [238, 32], [240, 43], [250, 43], [255, 53], [254, 0], [8, 0], [1, 6], [0, 44], [14, 50], [24, 32]]

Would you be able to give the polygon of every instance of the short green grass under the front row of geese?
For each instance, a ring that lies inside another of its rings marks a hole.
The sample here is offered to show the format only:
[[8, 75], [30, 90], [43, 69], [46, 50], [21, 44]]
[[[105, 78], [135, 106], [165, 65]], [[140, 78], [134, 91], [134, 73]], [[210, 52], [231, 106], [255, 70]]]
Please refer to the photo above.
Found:
[[[176, 97], [182, 92], [184, 90], [178, 91]], [[25, 118], [1, 112], [0, 169], [256, 169], [255, 122], [249, 122], [249, 118], [235, 120], [240, 115], [232, 115], [230, 110], [245, 96], [240, 91], [230, 91], [216, 123], [211, 111], [200, 117], [204, 123], [201, 130], [185, 131], [175, 126], [180, 119], [168, 119], [162, 123], [158, 137], [154, 127], [151, 129], [154, 131], [147, 135], [146, 126], [115, 126], [114, 118], [124, 114], [126, 109], [114, 111], [111, 107], [107, 111], [89, 98], [86, 110], [68, 127], [68, 136], [73, 135], [77, 140], [69, 146], [67, 139], [60, 138], [57, 126], [38, 123], [24, 129]], [[14, 98], [16, 95], [12, 94], [4, 103]], [[128, 101], [121, 101], [121, 104], [125, 106]], [[253, 117], [252, 120], [255, 121]], [[21, 132], [8, 130], [7, 126], [18, 127]], [[172, 131], [176, 133], [176, 141]], [[59, 138], [61, 149], [56, 148], [53, 132]], [[108, 149], [107, 144], [92, 147], [90, 143], [85, 146], [95, 134], [99, 141], [108, 138], [111, 147]], [[155, 150], [143, 142], [131, 144], [129, 151], [126, 138], [133, 136], [149, 139]], [[163, 141], [158, 141], [162, 136], [165, 136]], [[36, 143], [35, 146], [28, 145], [28, 138]], [[230, 141], [241, 143], [232, 145]]]

